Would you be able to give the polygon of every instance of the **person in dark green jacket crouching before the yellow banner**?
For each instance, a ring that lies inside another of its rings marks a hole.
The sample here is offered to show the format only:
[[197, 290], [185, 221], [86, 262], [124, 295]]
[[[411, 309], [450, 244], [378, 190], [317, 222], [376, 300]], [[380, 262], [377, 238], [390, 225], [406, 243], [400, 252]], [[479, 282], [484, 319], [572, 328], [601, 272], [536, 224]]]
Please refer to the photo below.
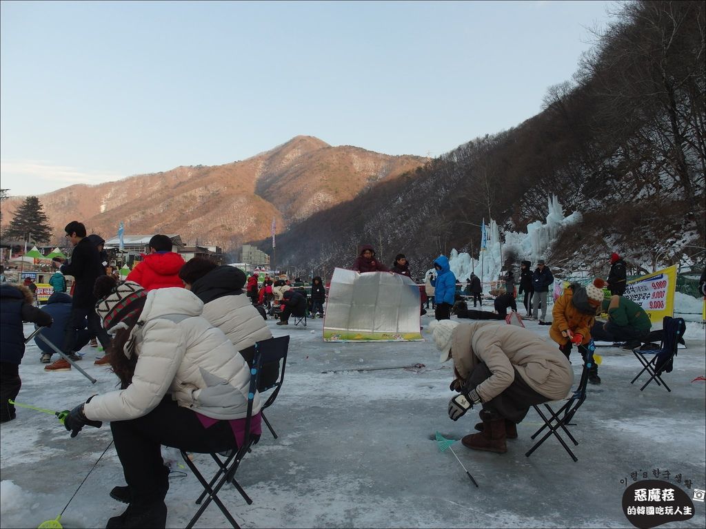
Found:
[[647, 341], [652, 322], [645, 310], [624, 296], [611, 296], [603, 300], [603, 310], [608, 312], [608, 321], [596, 322], [591, 336], [599, 341], [625, 341], [626, 349], [640, 347]]

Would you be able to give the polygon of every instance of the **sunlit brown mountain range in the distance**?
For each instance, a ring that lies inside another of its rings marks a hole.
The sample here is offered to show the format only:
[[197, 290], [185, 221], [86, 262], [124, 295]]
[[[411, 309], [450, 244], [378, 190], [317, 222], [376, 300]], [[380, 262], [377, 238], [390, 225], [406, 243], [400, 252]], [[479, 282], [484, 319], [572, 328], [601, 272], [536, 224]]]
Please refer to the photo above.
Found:
[[[240, 162], [181, 166], [39, 197], [57, 236], [69, 221], [80, 220], [109, 238], [123, 221], [126, 233], [179, 233], [187, 243], [234, 249], [268, 236], [272, 219], [282, 231], [425, 162], [297, 136]], [[4, 222], [22, 200], [6, 200]]]

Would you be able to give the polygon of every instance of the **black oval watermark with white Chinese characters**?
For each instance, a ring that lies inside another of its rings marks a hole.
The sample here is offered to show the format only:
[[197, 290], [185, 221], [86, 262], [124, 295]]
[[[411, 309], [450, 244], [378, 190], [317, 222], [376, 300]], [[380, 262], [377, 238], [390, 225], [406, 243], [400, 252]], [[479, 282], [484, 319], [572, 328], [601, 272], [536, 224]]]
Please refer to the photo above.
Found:
[[[700, 491], [694, 490], [694, 499]], [[688, 494], [664, 480], [642, 480], [629, 485], [623, 493], [623, 513], [636, 528], [651, 529], [669, 522], [685, 521], [694, 516], [694, 504]]]

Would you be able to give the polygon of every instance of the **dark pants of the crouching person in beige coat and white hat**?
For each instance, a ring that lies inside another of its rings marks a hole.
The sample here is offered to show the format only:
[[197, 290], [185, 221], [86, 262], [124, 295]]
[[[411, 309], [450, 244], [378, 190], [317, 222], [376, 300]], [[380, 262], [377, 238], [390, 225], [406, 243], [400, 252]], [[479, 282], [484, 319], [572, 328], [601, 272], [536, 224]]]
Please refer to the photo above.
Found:
[[[469, 391], [475, 389], [478, 384], [489, 379], [490, 376], [491, 371], [488, 366], [484, 362], [479, 363], [474, 368], [471, 376], [468, 377], [467, 389]], [[527, 412], [530, 411], [532, 404], [541, 404], [549, 401], [551, 399], [534, 391], [515, 369], [513, 383], [503, 389], [501, 394], [494, 396], [488, 402], [484, 402], [483, 409], [519, 424], [525, 418]]]

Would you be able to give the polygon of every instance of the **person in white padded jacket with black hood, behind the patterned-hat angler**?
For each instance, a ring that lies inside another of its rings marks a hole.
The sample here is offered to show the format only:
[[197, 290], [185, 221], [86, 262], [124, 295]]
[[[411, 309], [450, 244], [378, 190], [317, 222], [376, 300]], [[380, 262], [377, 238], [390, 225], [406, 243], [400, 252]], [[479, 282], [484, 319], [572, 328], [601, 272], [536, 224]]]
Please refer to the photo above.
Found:
[[251, 365], [255, 342], [272, 338], [272, 332], [243, 291], [245, 272], [193, 257], [181, 267], [179, 277], [184, 288], [203, 301], [203, 317], [221, 329]]

